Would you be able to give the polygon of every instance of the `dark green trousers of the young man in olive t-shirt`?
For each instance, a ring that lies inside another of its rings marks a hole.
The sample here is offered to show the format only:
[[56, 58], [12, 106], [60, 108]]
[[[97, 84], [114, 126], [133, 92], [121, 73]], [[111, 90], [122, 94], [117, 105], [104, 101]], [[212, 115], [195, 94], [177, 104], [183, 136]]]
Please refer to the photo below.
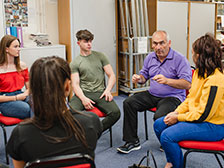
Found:
[[[100, 96], [103, 92], [84, 92], [85, 96], [93, 100], [96, 106], [100, 111], [106, 114], [106, 117], [102, 120], [103, 131], [110, 128], [114, 125], [117, 120], [120, 118], [120, 109], [118, 108], [117, 104], [112, 100], [111, 102], [106, 101], [105, 97], [100, 99]], [[73, 96], [70, 105], [73, 109], [78, 111], [85, 110], [81, 100], [77, 96]]]

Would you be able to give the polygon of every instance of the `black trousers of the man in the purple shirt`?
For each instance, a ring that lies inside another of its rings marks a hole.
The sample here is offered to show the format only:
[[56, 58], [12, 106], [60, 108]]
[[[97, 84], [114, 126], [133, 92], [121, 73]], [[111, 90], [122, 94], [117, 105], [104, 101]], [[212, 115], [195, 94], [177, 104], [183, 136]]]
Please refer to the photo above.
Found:
[[157, 110], [153, 118], [155, 121], [156, 119], [167, 115], [169, 112], [174, 111], [180, 103], [181, 101], [178, 98], [156, 97], [151, 95], [148, 91], [136, 93], [133, 96], [128, 97], [123, 102], [123, 140], [126, 142], [135, 142], [138, 140], [138, 112], [156, 107]]

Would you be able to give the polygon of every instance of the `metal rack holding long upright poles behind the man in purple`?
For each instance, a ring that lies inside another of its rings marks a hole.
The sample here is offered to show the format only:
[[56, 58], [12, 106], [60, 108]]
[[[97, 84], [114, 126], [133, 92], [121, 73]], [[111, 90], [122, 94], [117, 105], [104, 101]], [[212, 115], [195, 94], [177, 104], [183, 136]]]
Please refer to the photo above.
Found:
[[[118, 3], [118, 80], [119, 89], [133, 94], [149, 88], [134, 84], [132, 75], [139, 74], [145, 57], [151, 51], [152, 10], [155, 0], [119, 0]], [[154, 19], [154, 18], [153, 18]]]

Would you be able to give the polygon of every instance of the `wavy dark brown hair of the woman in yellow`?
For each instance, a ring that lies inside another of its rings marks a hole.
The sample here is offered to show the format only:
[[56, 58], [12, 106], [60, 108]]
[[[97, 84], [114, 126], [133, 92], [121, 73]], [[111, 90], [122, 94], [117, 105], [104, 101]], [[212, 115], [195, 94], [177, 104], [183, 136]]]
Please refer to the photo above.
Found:
[[218, 68], [222, 71], [222, 50], [220, 41], [216, 40], [211, 34], [205, 34], [197, 39], [192, 45], [195, 54], [198, 54], [196, 68], [198, 76], [205, 78], [214, 73]]

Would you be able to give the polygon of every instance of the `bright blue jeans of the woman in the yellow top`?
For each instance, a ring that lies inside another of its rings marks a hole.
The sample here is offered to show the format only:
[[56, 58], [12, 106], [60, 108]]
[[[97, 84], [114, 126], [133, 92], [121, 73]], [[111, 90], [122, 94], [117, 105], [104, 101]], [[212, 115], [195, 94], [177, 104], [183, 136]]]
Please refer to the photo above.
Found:
[[167, 162], [172, 163], [173, 168], [183, 167], [183, 153], [178, 145], [179, 141], [219, 141], [224, 138], [224, 124], [178, 122], [168, 126], [163, 120], [164, 117], [161, 117], [155, 121], [154, 131], [165, 151]]

